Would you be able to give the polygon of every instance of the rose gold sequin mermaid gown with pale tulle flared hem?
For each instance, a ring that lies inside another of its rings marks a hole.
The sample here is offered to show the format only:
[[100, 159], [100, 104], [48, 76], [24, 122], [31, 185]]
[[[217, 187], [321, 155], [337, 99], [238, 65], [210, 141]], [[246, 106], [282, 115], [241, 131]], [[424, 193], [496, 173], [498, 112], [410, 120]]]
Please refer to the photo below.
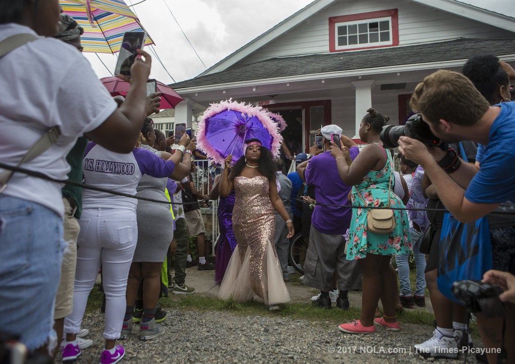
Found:
[[234, 178], [236, 199], [232, 212], [238, 245], [232, 254], [218, 297], [250, 301], [254, 294], [266, 305], [290, 301], [273, 246], [274, 208], [265, 176]]

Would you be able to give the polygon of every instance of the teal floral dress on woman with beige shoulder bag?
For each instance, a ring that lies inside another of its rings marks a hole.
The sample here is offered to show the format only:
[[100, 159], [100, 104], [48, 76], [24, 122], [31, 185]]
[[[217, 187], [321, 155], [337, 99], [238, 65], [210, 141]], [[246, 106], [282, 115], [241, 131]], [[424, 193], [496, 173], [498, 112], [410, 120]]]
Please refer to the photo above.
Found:
[[[404, 207], [399, 196], [390, 192], [388, 203], [388, 186], [393, 171], [391, 159], [381, 171], [370, 171], [361, 182], [352, 188], [352, 205], [374, 207]], [[392, 180], [393, 182], [393, 180]], [[359, 191], [359, 192], [358, 192]], [[363, 200], [358, 196], [361, 193]], [[408, 214], [405, 210], [393, 210], [395, 228], [390, 234], [374, 234], [367, 231], [367, 212], [365, 208], [353, 208], [347, 259], [365, 258], [368, 253], [377, 255], [408, 254], [411, 248]]]

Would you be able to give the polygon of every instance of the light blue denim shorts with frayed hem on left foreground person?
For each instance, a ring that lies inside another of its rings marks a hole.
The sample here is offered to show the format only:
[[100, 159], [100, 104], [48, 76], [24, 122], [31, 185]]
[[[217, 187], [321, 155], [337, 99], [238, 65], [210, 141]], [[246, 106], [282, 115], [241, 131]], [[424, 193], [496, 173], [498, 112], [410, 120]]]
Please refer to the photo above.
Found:
[[0, 327], [19, 335], [29, 351], [56, 344], [54, 304], [64, 246], [55, 211], [0, 196]]

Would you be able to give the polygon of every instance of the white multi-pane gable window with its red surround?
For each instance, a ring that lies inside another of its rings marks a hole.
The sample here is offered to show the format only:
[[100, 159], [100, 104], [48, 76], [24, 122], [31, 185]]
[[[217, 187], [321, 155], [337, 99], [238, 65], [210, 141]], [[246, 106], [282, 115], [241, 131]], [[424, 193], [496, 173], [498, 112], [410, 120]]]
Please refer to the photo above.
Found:
[[397, 9], [329, 18], [330, 51], [399, 45]]

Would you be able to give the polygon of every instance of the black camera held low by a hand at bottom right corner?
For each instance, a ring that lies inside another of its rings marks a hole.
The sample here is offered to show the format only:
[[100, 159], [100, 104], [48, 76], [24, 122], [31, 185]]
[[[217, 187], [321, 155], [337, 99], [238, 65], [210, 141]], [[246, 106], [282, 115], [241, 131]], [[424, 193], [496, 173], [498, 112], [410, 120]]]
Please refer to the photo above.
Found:
[[485, 317], [505, 315], [504, 305], [499, 299], [503, 289], [480, 280], [457, 280], [452, 284], [452, 293], [471, 312], [483, 312]]

